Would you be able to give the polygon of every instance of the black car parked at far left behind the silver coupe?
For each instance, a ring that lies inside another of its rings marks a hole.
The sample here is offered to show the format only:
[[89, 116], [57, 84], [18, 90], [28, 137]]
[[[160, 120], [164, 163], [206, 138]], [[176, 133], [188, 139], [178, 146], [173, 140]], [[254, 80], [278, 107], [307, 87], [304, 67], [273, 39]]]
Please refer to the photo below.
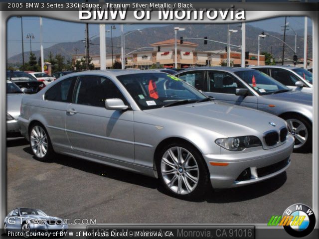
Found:
[[22, 71], [7, 71], [6, 79], [16, 84], [26, 94], [38, 93], [45, 87], [43, 82]]

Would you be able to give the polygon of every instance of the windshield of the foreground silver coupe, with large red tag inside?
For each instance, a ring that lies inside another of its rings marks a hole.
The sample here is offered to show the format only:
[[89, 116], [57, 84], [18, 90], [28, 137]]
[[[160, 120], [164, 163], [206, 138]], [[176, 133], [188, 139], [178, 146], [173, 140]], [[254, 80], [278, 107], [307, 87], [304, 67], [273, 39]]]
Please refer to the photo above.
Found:
[[142, 110], [209, 100], [192, 86], [167, 73], [139, 73], [117, 78]]

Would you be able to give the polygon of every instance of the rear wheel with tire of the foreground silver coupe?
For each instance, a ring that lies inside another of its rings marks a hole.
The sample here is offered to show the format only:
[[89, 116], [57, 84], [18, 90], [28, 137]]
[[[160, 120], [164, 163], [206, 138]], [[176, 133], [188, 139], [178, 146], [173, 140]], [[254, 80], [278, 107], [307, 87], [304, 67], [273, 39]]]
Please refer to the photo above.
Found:
[[54, 150], [48, 132], [41, 123], [34, 123], [29, 131], [30, 147], [34, 157], [42, 162], [50, 162], [54, 156]]

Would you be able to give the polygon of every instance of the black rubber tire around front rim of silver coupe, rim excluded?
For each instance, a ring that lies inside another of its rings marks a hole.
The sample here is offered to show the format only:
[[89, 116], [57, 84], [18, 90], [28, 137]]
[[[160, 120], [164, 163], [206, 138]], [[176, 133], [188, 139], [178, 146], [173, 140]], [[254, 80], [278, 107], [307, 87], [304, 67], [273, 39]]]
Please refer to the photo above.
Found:
[[[177, 194], [173, 191], [171, 191], [171, 189], [166, 185], [166, 183], [164, 182], [164, 179], [161, 175], [161, 169], [160, 169], [160, 163], [161, 163], [161, 158], [163, 156], [163, 154], [165, 153], [165, 151], [171, 147], [183, 147], [186, 150], [188, 150], [193, 156], [194, 159], [196, 160], [196, 163], [198, 165], [198, 169], [199, 169], [199, 180], [198, 183], [196, 185], [196, 188], [189, 194]], [[202, 155], [198, 152], [198, 150], [192, 146], [191, 144], [186, 144], [186, 143], [170, 143], [166, 146], [164, 146], [161, 150], [159, 155], [157, 155], [157, 160], [156, 160], [156, 168], [158, 171], [158, 175], [159, 175], [159, 179], [161, 184], [163, 185], [163, 187], [165, 188], [165, 190], [168, 192], [168, 194], [180, 198], [180, 199], [193, 199], [193, 198], [200, 198], [203, 196], [205, 189], [207, 187], [208, 184], [208, 169], [207, 166], [205, 165], [205, 161], [202, 157]]]

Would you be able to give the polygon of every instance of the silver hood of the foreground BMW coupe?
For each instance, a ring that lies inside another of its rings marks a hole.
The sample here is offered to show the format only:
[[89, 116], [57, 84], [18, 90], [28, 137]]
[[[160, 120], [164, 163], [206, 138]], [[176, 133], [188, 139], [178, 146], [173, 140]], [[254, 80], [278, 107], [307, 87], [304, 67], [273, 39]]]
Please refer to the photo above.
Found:
[[[221, 102], [197, 103], [145, 111], [164, 119], [196, 125], [227, 137], [260, 135], [286, 123], [271, 114]], [[276, 126], [271, 126], [274, 122]]]

